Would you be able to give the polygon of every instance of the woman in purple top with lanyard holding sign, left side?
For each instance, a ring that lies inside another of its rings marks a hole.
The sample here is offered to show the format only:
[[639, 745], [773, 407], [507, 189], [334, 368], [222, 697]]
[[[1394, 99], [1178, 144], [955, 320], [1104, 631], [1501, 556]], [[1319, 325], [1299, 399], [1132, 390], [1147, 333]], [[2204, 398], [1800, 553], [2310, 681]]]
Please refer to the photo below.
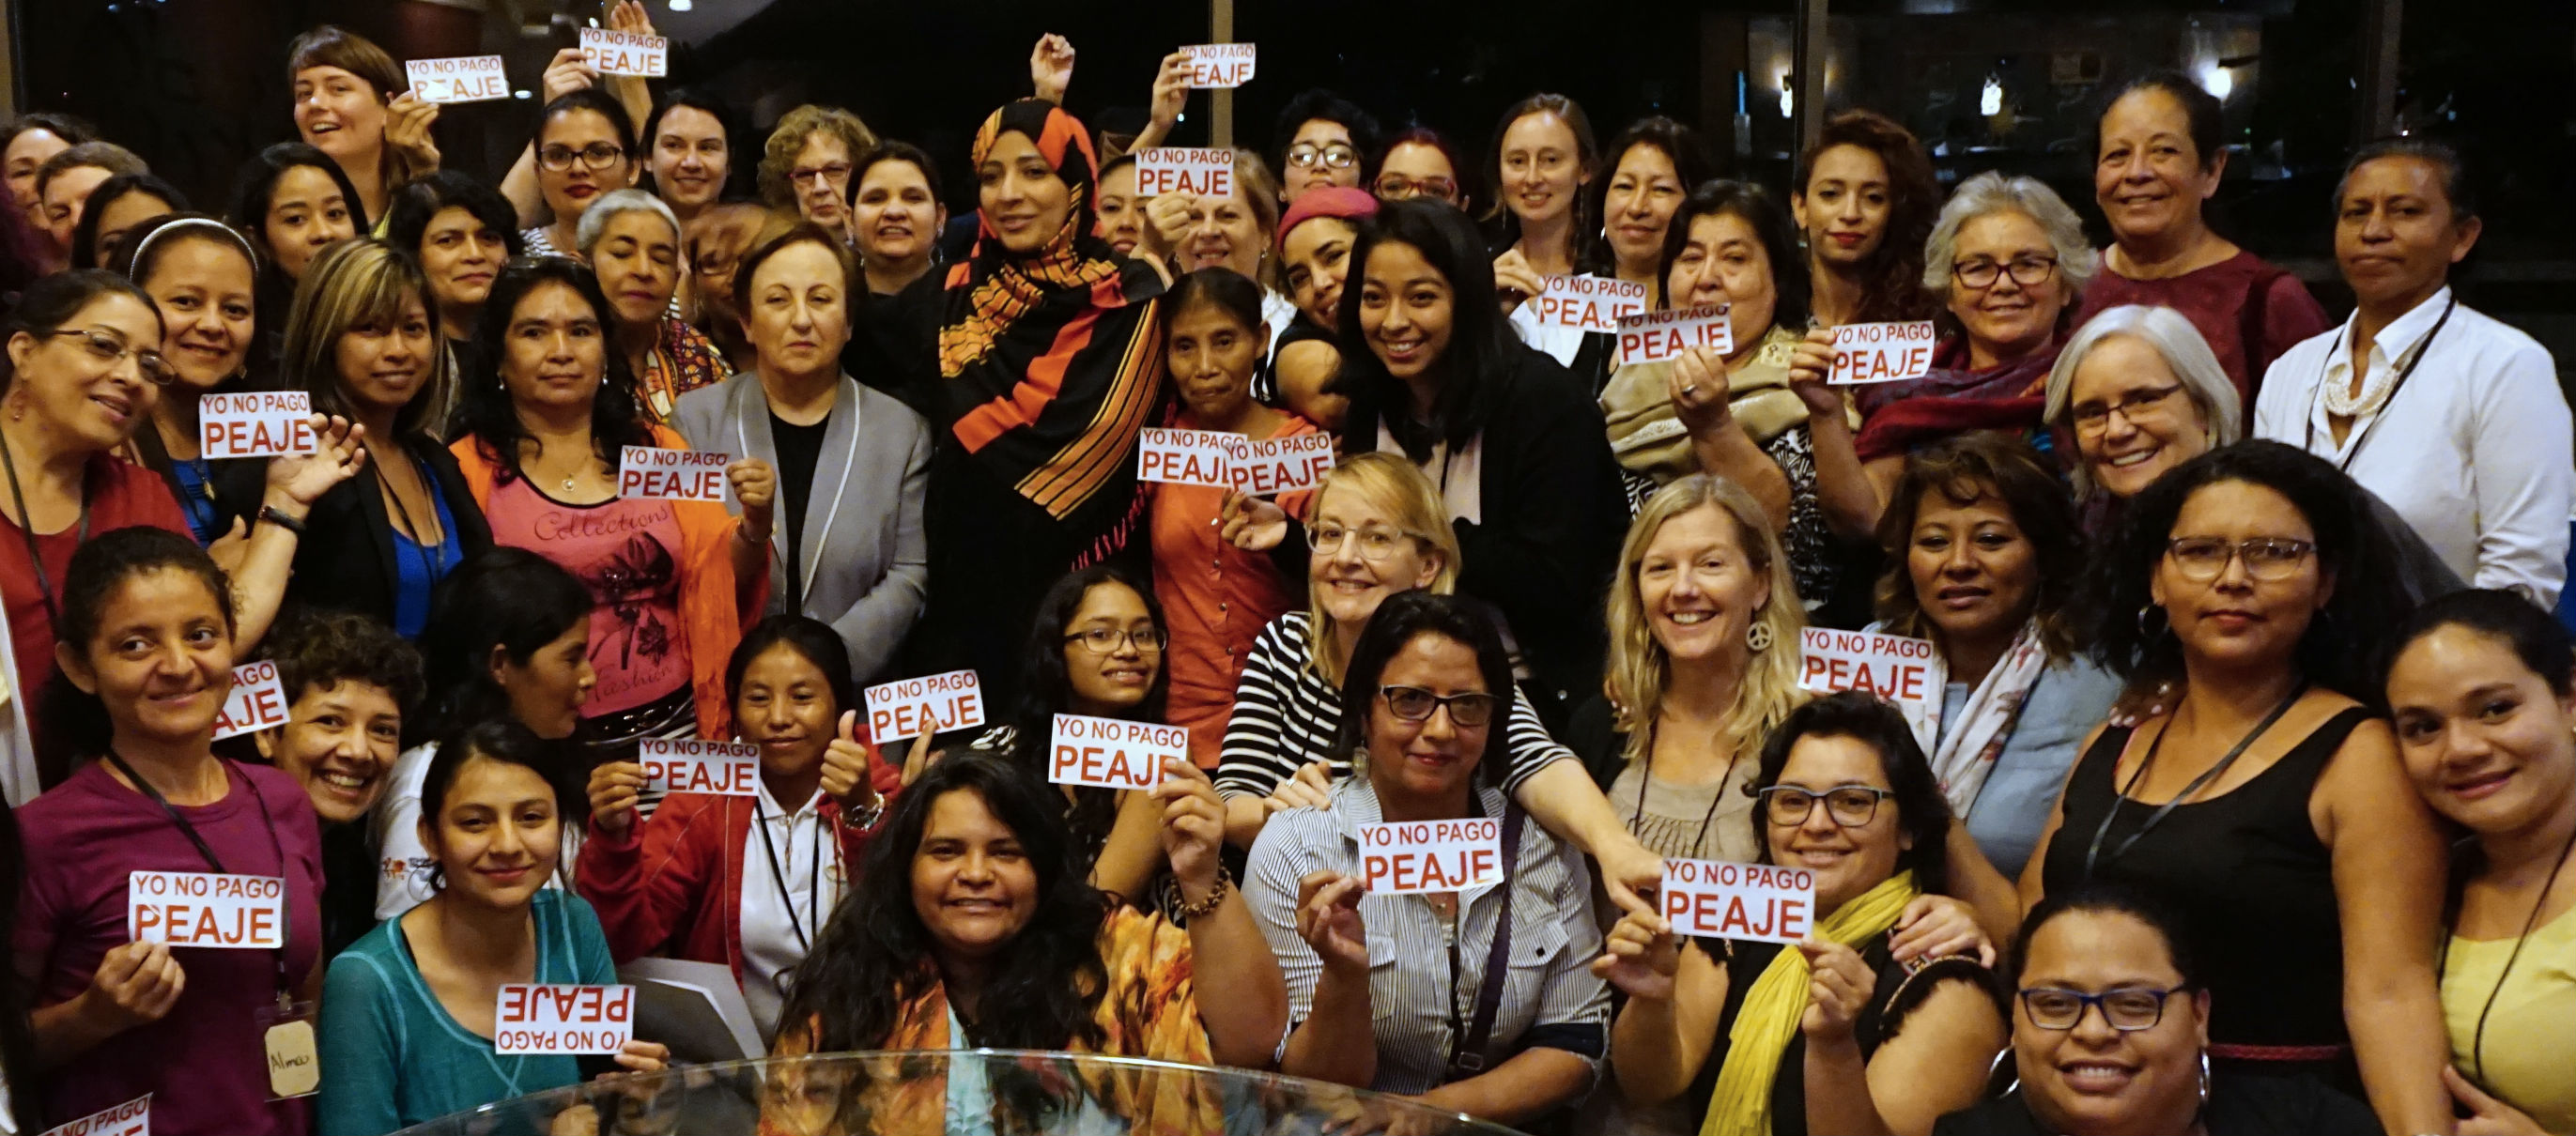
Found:
[[[149, 1092], [160, 1131], [309, 1131], [301, 1100], [273, 1097], [312, 1084], [270, 1069], [314, 1059], [322, 832], [294, 778], [214, 755], [232, 649], [232, 585], [185, 536], [116, 528], [72, 554], [54, 654], [82, 765], [18, 809], [39, 1126]], [[134, 873], [209, 902], [183, 912]], [[162, 930], [129, 940], [129, 920]]]

